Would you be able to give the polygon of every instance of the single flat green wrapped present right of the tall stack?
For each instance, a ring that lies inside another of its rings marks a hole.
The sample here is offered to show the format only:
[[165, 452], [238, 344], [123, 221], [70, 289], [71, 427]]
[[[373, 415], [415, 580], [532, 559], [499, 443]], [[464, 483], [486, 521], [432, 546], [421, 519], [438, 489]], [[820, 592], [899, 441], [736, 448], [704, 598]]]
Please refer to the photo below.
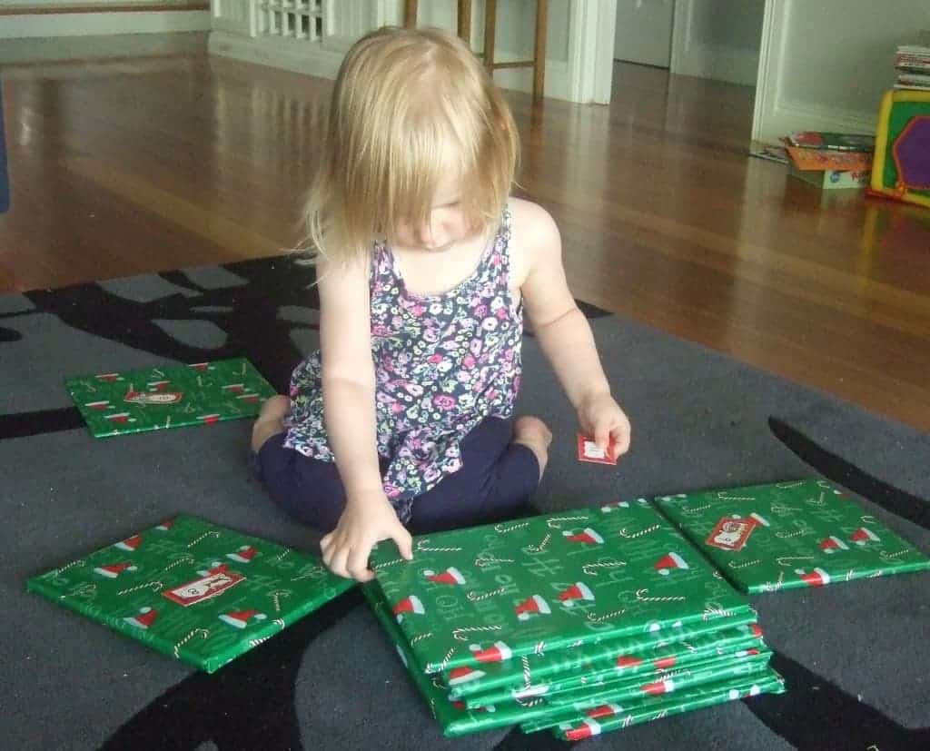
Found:
[[751, 594], [930, 569], [930, 559], [828, 481], [656, 500], [734, 586]]

